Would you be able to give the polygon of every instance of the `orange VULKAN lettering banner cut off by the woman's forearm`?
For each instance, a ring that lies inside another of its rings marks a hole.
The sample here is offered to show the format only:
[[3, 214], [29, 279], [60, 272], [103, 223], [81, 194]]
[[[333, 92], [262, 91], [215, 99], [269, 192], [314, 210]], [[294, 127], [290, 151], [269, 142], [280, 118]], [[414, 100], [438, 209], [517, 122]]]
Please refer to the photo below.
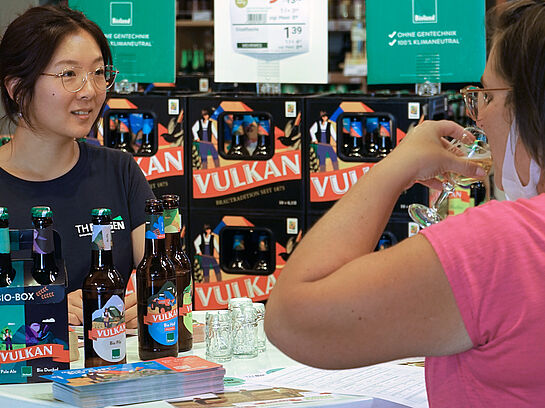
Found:
[[335, 201], [371, 169], [371, 164], [310, 176], [310, 201]]

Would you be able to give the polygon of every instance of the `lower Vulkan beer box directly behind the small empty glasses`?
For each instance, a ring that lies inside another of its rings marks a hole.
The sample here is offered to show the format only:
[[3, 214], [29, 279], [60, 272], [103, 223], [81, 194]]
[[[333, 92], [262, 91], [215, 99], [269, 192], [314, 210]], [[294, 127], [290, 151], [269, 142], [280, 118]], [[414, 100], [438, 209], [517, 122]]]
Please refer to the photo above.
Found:
[[187, 242], [195, 309], [225, 309], [233, 297], [267, 299], [301, 240], [303, 223], [302, 213], [296, 212], [192, 210]]

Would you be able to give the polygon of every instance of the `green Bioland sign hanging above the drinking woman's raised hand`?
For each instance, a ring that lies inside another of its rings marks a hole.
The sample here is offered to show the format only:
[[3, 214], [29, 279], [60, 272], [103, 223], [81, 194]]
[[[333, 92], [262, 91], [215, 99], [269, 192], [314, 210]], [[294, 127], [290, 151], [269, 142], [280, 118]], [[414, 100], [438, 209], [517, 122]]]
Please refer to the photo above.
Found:
[[478, 82], [484, 0], [367, 0], [369, 84]]

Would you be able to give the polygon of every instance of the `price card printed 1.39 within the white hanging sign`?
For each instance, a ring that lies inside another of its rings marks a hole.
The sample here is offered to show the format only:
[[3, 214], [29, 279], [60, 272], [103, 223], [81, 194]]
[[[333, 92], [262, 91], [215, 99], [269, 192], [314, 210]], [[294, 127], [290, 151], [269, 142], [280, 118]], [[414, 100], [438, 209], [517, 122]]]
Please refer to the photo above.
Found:
[[254, 55], [308, 52], [309, 7], [310, 0], [230, 0], [234, 51]]

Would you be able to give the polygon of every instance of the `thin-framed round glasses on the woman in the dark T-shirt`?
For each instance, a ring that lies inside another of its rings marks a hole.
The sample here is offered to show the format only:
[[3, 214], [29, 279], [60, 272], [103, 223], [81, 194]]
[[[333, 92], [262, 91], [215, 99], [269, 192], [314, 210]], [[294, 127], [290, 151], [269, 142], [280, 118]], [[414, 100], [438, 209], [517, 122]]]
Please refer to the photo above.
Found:
[[68, 92], [79, 92], [85, 86], [89, 77], [93, 80], [95, 87], [100, 91], [110, 89], [119, 73], [113, 65], [102, 65], [94, 71], [85, 71], [81, 67], [64, 68], [58, 74], [42, 72], [42, 75], [60, 78], [62, 86]]

